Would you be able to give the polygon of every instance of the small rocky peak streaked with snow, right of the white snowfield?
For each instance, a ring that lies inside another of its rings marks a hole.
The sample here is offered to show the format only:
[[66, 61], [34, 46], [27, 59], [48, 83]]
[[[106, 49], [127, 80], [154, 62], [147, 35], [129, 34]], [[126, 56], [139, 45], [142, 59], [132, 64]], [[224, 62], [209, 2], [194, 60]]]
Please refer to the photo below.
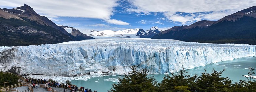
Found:
[[162, 30], [158, 28], [157, 26], [151, 27], [149, 30], [144, 31], [143, 29], [139, 30], [137, 32], [136, 36], [139, 36], [140, 38], [151, 38], [155, 36], [156, 34], [160, 33]]

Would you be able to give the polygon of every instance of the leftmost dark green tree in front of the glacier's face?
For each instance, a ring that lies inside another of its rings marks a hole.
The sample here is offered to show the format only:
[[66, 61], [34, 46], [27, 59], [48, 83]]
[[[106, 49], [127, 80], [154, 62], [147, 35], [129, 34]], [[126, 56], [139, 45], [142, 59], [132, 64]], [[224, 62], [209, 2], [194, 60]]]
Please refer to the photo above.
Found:
[[117, 84], [113, 84], [109, 92], [156, 92], [157, 82], [154, 77], [147, 77], [149, 69], [136, 70], [137, 66], [131, 66], [131, 72], [123, 79], [119, 78]]

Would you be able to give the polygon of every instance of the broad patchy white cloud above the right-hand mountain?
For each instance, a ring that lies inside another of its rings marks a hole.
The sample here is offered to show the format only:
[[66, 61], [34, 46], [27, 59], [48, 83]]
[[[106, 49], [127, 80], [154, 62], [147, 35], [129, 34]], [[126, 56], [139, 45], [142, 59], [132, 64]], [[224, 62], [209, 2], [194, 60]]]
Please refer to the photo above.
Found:
[[[168, 20], [182, 24], [202, 19], [218, 20], [256, 5], [255, 0], [129, 0], [129, 2], [135, 7], [126, 9], [129, 12], [162, 12]], [[193, 15], [200, 12], [210, 12], [210, 14]], [[182, 13], [190, 15], [184, 16]]]

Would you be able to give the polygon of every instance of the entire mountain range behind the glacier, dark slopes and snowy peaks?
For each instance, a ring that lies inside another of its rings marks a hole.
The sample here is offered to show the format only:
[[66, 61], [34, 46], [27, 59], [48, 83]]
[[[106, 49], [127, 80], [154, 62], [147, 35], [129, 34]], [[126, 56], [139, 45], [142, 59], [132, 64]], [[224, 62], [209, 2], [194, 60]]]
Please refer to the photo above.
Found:
[[153, 26], [149, 30], [85, 30], [82, 33], [74, 27], [57, 25], [24, 4], [13, 9], [0, 9], [0, 46], [55, 44], [94, 39], [96, 36], [256, 45], [255, 11], [256, 6], [253, 6], [218, 21], [202, 20], [189, 26], [174, 26], [168, 30]]

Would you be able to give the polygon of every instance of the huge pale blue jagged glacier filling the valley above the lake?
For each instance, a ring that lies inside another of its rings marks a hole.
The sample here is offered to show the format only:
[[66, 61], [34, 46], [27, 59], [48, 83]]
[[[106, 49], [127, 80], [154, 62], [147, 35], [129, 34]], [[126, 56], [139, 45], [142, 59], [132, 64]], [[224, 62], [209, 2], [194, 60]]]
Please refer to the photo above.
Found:
[[60, 44], [0, 47], [0, 69], [53, 76], [177, 72], [255, 55], [254, 45], [205, 44], [164, 39], [95, 39]]

